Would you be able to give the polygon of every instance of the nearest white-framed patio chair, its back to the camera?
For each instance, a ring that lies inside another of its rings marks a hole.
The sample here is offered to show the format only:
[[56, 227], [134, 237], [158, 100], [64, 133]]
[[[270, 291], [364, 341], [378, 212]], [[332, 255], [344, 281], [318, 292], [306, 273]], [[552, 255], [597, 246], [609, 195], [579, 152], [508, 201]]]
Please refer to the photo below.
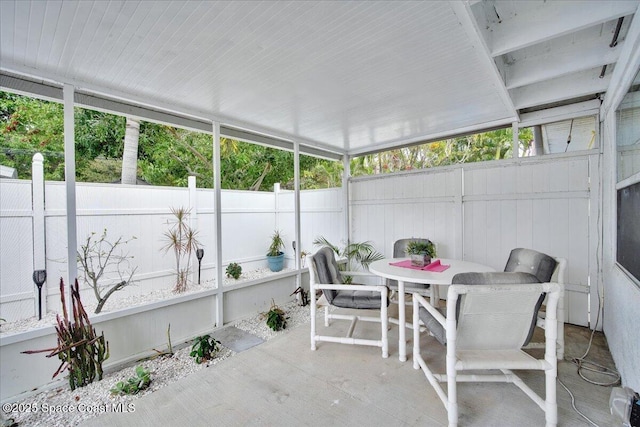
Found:
[[[458, 423], [458, 382], [510, 382], [525, 392], [544, 412], [547, 426], [557, 424], [556, 314], [562, 285], [536, 283], [529, 273], [461, 273], [454, 276], [447, 293], [446, 317], [424, 297], [413, 295], [413, 367], [425, 377], [442, 400], [449, 426]], [[465, 283], [465, 284], [461, 284]], [[547, 294], [545, 353], [537, 359], [522, 350], [540, 296]], [[419, 322], [446, 345], [446, 374], [435, 374], [420, 354]], [[545, 399], [511, 370], [545, 373]], [[460, 371], [499, 370], [501, 373]], [[447, 392], [440, 383], [447, 383]]]

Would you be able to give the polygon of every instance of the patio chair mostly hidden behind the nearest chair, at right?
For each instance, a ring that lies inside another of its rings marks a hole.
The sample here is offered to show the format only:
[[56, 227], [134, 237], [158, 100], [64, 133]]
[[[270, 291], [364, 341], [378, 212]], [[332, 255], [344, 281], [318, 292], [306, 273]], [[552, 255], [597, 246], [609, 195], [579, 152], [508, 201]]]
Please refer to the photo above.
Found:
[[[507, 265], [504, 267], [506, 272], [525, 272], [532, 273], [540, 282], [555, 282], [564, 285], [565, 272], [567, 268], [567, 260], [564, 258], [554, 258], [542, 252], [533, 249], [516, 248], [509, 254]], [[541, 297], [540, 304], [543, 303], [544, 297]], [[544, 311], [537, 311], [536, 326], [544, 329], [546, 324]], [[560, 292], [558, 300], [558, 348], [556, 356], [558, 360], [564, 358], [564, 287]], [[535, 327], [530, 331], [527, 338], [527, 348], [544, 348], [542, 342], [530, 342]]]

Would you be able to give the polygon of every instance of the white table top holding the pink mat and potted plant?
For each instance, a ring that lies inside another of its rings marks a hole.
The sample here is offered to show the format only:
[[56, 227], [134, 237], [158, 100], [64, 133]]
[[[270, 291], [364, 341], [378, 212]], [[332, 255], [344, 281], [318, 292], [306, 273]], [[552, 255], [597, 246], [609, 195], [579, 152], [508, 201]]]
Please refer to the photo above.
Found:
[[458, 273], [495, 271], [486, 265], [448, 258], [434, 259], [434, 261], [439, 259], [440, 263], [451, 266], [442, 272], [414, 270], [412, 268], [389, 265], [391, 262], [405, 261], [407, 259], [409, 258], [385, 258], [375, 261], [369, 265], [369, 271], [387, 279], [431, 285], [450, 285], [453, 276]]

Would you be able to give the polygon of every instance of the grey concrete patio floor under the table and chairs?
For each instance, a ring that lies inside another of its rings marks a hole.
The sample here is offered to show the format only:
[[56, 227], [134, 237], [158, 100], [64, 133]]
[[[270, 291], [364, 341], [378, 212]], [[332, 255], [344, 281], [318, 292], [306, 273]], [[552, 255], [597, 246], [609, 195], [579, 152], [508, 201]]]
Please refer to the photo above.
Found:
[[[375, 336], [376, 326], [359, 323], [356, 333]], [[347, 322], [332, 327], [341, 332], [346, 328]], [[136, 400], [135, 412], [104, 414], [84, 425], [446, 425], [444, 406], [422, 371], [413, 369], [411, 356], [404, 363], [398, 360], [397, 331], [396, 326], [389, 331], [390, 357], [383, 359], [380, 349], [373, 347], [320, 343], [317, 351], [311, 351], [309, 325], [302, 325]], [[582, 356], [590, 331], [571, 325], [565, 331], [566, 359]], [[407, 335], [411, 339], [411, 333]], [[428, 363], [444, 372], [443, 347], [426, 335], [421, 343]], [[613, 366], [601, 333], [595, 335], [588, 359]], [[559, 378], [574, 393], [578, 409], [600, 426], [615, 425], [609, 414], [611, 388], [587, 383], [570, 361], [558, 367]], [[542, 373], [520, 373], [536, 392], [542, 392]], [[560, 384], [557, 390], [558, 425], [588, 425], [572, 409], [571, 398]], [[458, 401], [461, 426], [541, 426], [545, 422], [543, 411], [512, 384], [462, 384]]]

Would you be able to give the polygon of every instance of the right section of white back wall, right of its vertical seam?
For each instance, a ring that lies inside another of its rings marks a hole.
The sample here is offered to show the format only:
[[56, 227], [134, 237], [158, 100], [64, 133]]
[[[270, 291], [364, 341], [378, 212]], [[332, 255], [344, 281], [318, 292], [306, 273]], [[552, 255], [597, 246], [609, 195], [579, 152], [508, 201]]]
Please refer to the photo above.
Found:
[[589, 322], [597, 246], [590, 238], [597, 235], [590, 232], [591, 169], [590, 157], [581, 156], [500, 168], [474, 165], [464, 172], [464, 258], [496, 270], [517, 247], [566, 258], [567, 320], [580, 325]]

